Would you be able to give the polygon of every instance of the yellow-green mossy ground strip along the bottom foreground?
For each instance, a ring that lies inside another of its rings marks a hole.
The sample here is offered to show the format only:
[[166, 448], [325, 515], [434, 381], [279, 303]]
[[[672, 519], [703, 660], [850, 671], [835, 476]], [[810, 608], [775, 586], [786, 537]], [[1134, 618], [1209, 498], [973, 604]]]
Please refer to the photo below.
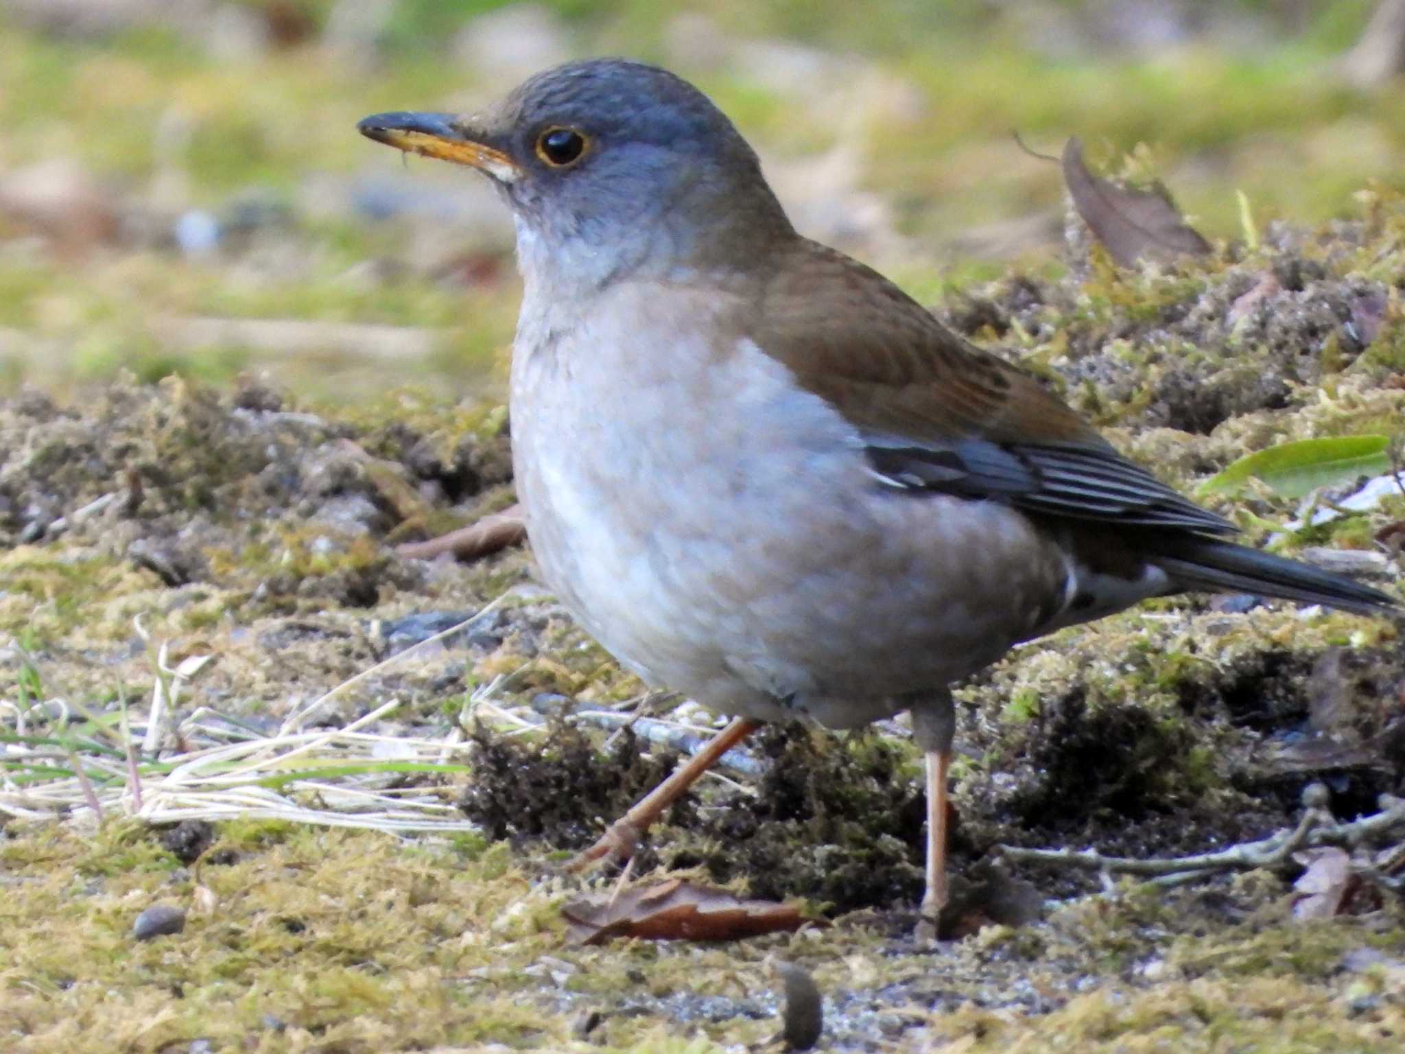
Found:
[[[1405, 1029], [1398, 905], [1297, 922], [1264, 876], [1124, 887], [933, 954], [870, 915], [563, 947], [566, 884], [507, 843], [225, 824], [190, 868], [112, 824], [30, 831], [0, 861], [17, 1051], [726, 1050], [776, 1032], [767, 956], [826, 994], [828, 1048], [1384, 1053]], [[181, 935], [132, 942], [140, 908], [188, 906], [197, 885]]]

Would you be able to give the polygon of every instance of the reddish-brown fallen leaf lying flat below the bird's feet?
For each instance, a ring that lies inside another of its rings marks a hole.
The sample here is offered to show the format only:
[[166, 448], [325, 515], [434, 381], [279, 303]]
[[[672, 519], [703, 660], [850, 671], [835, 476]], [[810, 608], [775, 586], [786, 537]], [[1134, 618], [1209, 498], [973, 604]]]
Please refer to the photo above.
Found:
[[617, 897], [582, 897], [561, 913], [576, 944], [603, 944], [613, 937], [740, 940], [788, 933], [815, 922], [790, 904], [743, 901], [726, 890], [681, 878], [625, 890]]

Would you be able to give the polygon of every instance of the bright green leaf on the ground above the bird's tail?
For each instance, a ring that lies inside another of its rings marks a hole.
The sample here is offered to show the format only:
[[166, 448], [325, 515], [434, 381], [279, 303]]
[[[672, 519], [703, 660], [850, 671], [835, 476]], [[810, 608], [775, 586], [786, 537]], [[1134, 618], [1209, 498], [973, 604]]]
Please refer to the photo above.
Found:
[[1235, 461], [1207, 479], [1197, 495], [1232, 495], [1257, 479], [1284, 497], [1304, 497], [1319, 486], [1339, 486], [1357, 476], [1380, 475], [1391, 468], [1388, 436], [1328, 436], [1294, 440]]

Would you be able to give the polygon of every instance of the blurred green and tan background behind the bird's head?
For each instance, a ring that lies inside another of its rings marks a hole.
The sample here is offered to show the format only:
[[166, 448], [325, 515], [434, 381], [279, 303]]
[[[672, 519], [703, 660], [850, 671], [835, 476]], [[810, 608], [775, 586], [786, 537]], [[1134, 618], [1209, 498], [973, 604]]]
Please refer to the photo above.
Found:
[[[1058, 268], [1057, 155], [1156, 176], [1211, 239], [1360, 211], [1405, 157], [1401, 3], [0, 0], [0, 395], [121, 368], [303, 398], [492, 398], [506, 209], [355, 134], [565, 59], [698, 83], [806, 233], [932, 302]], [[1242, 191], [1242, 198], [1241, 193]]]

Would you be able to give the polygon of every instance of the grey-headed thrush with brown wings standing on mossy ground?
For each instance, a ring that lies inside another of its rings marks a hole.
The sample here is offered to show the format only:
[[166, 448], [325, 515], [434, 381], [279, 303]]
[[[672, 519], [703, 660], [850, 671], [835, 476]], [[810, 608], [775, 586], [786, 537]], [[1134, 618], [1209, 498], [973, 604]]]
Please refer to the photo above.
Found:
[[1232, 541], [1030, 374], [805, 238], [736, 126], [667, 70], [572, 62], [476, 114], [358, 129], [506, 200], [513, 467], [541, 575], [622, 666], [732, 718], [576, 866], [628, 856], [763, 722], [909, 711], [932, 940], [953, 682], [1148, 597], [1397, 607]]

